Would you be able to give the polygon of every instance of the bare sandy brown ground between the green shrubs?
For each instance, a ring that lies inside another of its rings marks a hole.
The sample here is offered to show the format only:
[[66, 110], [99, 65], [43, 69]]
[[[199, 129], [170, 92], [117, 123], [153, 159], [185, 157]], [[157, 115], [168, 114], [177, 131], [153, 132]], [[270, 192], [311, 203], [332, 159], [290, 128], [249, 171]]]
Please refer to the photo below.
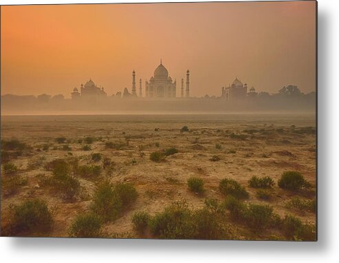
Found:
[[[187, 125], [189, 132], [180, 132]], [[295, 125], [296, 127], [291, 127]], [[19, 167], [18, 173], [28, 178], [28, 185], [19, 193], [1, 197], [1, 215], [6, 220], [8, 206], [28, 198], [43, 198], [54, 209], [55, 224], [52, 236], [67, 236], [67, 228], [78, 213], [87, 211], [96, 183], [80, 178], [83, 191], [89, 198], [78, 198], [76, 202], [63, 202], [51, 191], [39, 185], [37, 176], [52, 174], [44, 164], [56, 158], [73, 157], [80, 164], [94, 163], [91, 153], [101, 153], [111, 158], [115, 165], [108, 174], [111, 182], [130, 182], [139, 196], [135, 204], [115, 222], [105, 224], [107, 233], [129, 233], [136, 236], [131, 225], [135, 211], [151, 214], [162, 211], [173, 200], [185, 199], [192, 207], [201, 207], [204, 198], [223, 200], [219, 193], [219, 181], [234, 178], [250, 193], [246, 202], [269, 203], [280, 215], [295, 213], [304, 221], [315, 222], [314, 213], [298, 213], [285, 208], [285, 202], [294, 193], [274, 187], [274, 198], [270, 202], [258, 200], [256, 189], [248, 187], [252, 176], [271, 176], [275, 182], [284, 171], [300, 171], [315, 185], [316, 183], [316, 135], [294, 133], [300, 127], [315, 127], [312, 114], [224, 114], [224, 115], [128, 115], [128, 116], [1, 116], [1, 139], [17, 138], [33, 147], [31, 154], [12, 160]], [[155, 128], [160, 128], [155, 131]], [[259, 132], [248, 134], [244, 130]], [[230, 138], [230, 134], [245, 134], [245, 140]], [[63, 151], [56, 137], [65, 136], [72, 151]], [[96, 141], [91, 151], [83, 151], [85, 143], [78, 138], [91, 136]], [[128, 145], [122, 149], [107, 149], [106, 142], [121, 142]], [[48, 151], [42, 145], [50, 144]], [[159, 147], [155, 146], [159, 143]], [[216, 144], [221, 145], [217, 149]], [[54, 150], [56, 146], [58, 149]], [[179, 153], [166, 157], [164, 162], [153, 162], [149, 155], [175, 147]], [[212, 156], [221, 160], [212, 162]], [[34, 165], [32, 165], [34, 164]], [[204, 179], [206, 193], [203, 197], [188, 191], [190, 176]], [[315, 198], [315, 192], [307, 198]]]

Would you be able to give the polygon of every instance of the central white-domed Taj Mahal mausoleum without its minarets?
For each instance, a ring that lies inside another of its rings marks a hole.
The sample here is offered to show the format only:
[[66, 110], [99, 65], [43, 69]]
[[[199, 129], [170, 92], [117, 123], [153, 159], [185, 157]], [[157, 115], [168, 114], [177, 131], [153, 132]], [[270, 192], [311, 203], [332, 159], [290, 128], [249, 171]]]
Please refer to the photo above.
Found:
[[154, 76], [146, 81], [145, 90], [147, 98], [175, 98], [177, 96], [177, 81], [173, 82], [171, 76], [168, 76], [168, 71], [162, 65], [162, 61], [155, 69]]

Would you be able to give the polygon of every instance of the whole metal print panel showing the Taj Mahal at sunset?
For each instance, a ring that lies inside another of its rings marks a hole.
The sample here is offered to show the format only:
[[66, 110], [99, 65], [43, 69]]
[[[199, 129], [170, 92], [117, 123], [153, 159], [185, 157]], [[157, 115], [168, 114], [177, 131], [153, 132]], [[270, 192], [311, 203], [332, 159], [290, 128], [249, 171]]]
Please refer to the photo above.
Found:
[[316, 5], [1, 6], [1, 235], [316, 241]]

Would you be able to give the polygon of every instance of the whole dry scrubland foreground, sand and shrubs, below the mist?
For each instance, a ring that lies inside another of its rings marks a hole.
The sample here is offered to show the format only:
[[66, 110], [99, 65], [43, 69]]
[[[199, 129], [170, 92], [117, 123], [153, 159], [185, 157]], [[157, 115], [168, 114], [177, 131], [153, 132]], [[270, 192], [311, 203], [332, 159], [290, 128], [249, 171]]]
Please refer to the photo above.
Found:
[[[315, 126], [314, 114], [1, 116], [1, 235], [315, 240]], [[286, 171], [305, 182], [281, 187]], [[248, 195], [225, 193], [225, 178]]]

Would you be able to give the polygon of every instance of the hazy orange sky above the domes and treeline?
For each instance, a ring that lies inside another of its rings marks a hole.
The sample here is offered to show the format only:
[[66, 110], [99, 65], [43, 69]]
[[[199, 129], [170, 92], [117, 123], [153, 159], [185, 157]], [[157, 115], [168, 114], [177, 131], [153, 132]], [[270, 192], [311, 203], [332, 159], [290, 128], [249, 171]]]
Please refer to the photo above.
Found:
[[144, 87], [160, 59], [177, 96], [187, 69], [191, 96], [236, 76], [259, 92], [315, 91], [316, 3], [1, 7], [1, 94], [69, 98], [92, 78], [111, 95], [131, 90], [133, 70]]

